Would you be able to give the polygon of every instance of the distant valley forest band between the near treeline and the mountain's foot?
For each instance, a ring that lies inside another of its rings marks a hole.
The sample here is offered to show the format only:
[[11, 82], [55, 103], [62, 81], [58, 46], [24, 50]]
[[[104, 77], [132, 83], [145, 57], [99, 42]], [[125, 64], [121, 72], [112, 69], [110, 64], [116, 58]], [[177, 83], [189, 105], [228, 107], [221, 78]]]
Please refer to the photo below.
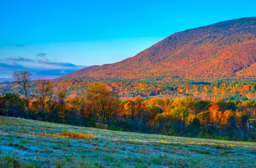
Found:
[[[181, 96], [190, 96], [195, 100], [200, 99], [224, 99], [245, 101], [256, 99], [256, 82], [255, 81], [225, 81], [225, 82], [170, 82], [158, 81], [158, 79], [148, 80], [121, 80], [108, 79], [98, 81], [88, 80], [53, 80], [52, 89], [55, 99], [55, 94], [61, 86], [67, 89], [67, 96], [74, 96], [81, 90], [86, 90], [92, 83], [105, 83], [117, 92], [119, 97], [150, 97], [160, 95], [169, 99], [174, 99]], [[28, 83], [29, 93], [37, 94], [37, 89], [34, 82]], [[23, 94], [20, 87], [16, 87], [14, 83], [0, 83], [2, 94], [14, 92]]]

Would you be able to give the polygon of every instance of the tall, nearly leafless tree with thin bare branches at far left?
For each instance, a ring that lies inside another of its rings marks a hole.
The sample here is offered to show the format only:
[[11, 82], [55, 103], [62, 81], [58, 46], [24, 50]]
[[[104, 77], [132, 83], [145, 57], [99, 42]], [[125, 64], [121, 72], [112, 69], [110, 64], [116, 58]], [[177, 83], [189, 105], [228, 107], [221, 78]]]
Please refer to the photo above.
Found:
[[27, 91], [27, 85], [29, 83], [31, 73], [27, 70], [25, 71], [14, 71], [12, 74], [12, 77], [14, 78], [15, 82], [18, 83], [19, 85], [22, 86], [22, 89], [25, 94], [25, 99], [26, 99], [26, 106], [27, 106], [27, 111], [29, 112], [29, 93]]

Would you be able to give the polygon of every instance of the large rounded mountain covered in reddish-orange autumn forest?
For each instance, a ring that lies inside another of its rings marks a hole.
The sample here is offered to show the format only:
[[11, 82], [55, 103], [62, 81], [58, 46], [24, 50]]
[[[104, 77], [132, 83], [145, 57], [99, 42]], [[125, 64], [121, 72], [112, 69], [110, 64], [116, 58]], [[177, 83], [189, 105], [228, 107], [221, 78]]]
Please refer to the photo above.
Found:
[[184, 79], [256, 77], [256, 17], [222, 21], [174, 33], [113, 64], [92, 66], [61, 79]]

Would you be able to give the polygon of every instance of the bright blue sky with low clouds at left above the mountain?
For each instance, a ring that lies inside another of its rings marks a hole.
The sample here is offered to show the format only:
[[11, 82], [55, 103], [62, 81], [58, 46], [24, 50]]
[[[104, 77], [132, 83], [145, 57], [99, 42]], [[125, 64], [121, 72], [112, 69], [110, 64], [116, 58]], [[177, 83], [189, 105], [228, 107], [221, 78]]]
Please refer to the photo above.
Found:
[[256, 1], [0, 0], [0, 78], [135, 56], [172, 33], [256, 16]]

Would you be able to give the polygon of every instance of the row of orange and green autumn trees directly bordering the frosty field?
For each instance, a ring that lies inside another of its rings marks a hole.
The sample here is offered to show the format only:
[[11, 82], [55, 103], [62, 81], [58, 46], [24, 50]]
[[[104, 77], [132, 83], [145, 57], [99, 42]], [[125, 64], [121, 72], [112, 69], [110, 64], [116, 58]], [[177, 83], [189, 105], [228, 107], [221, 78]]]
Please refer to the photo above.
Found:
[[[19, 74], [18, 74], [19, 75]], [[18, 81], [18, 79], [17, 79]], [[26, 88], [25, 80], [19, 83]], [[25, 82], [24, 82], [25, 81]], [[160, 133], [228, 140], [256, 139], [256, 101], [122, 99], [104, 83], [94, 83], [75, 96], [65, 87], [54, 93], [47, 80], [34, 81], [36, 95], [6, 93], [0, 96], [0, 115], [24, 117], [117, 131]], [[57, 96], [56, 99], [52, 95]]]

